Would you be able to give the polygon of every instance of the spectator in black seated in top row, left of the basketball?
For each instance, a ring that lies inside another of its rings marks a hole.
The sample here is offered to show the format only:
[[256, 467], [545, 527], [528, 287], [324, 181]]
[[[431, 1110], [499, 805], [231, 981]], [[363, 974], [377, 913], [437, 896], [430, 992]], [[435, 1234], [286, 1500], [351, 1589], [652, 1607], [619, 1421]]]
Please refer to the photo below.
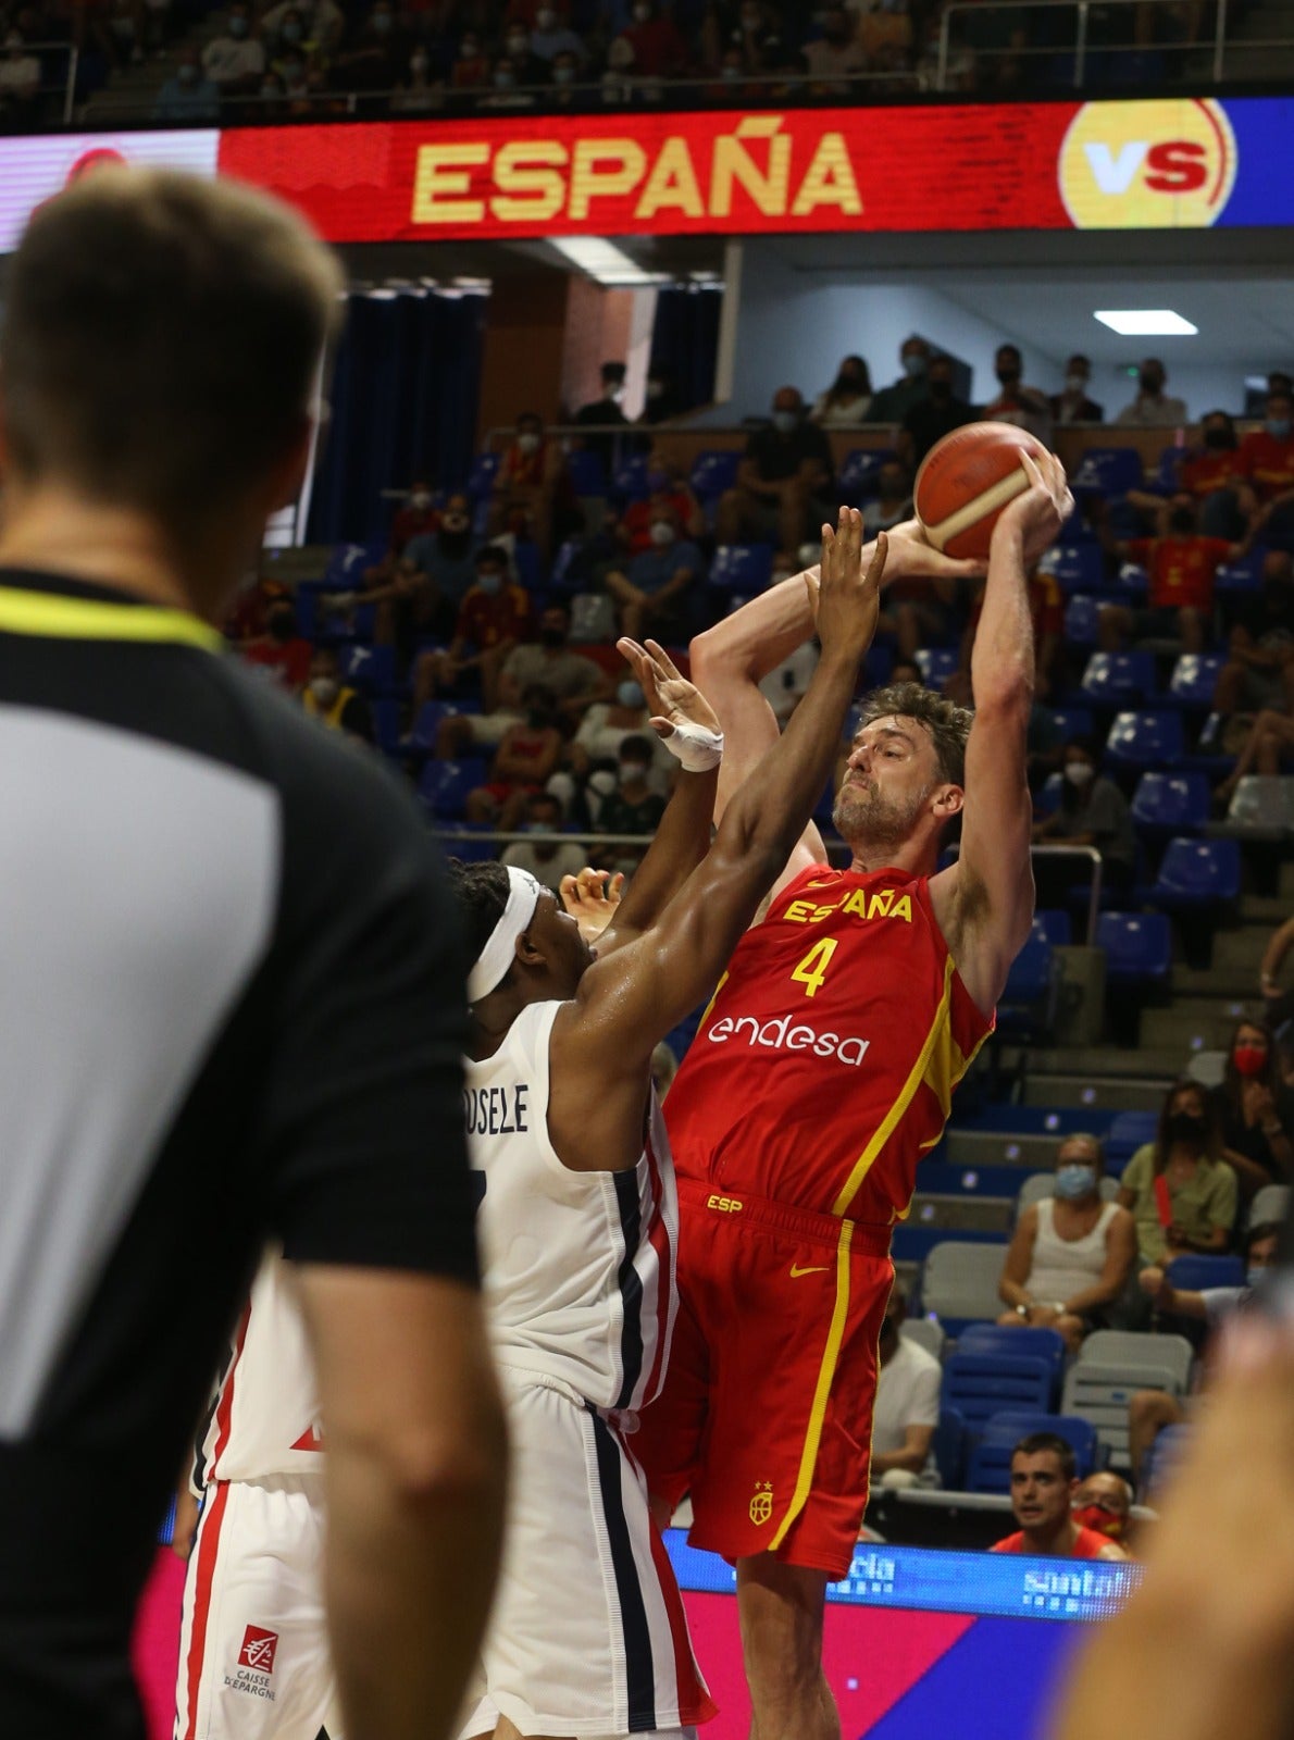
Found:
[[779, 386], [772, 398], [772, 426], [750, 437], [736, 487], [718, 499], [717, 541], [774, 543], [793, 553], [810, 525], [835, 512], [830, 505], [833, 472], [831, 444], [805, 419], [798, 390]]

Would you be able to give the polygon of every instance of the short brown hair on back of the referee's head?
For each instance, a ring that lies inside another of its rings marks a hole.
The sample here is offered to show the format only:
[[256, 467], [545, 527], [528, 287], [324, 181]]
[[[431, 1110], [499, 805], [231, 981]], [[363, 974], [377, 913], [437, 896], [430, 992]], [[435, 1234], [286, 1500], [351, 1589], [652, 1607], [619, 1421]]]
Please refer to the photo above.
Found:
[[31, 218], [0, 327], [19, 477], [59, 477], [172, 532], [299, 440], [341, 270], [278, 200], [106, 165]]

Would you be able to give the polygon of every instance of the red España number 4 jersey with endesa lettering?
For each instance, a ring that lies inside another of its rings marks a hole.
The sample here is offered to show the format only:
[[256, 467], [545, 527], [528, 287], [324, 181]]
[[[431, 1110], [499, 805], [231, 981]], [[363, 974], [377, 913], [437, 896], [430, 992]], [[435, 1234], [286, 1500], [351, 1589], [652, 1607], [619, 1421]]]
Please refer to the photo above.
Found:
[[670, 1089], [678, 1176], [894, 1221], [991, 1027], [925, 877], [812, 865], [737, 943]]

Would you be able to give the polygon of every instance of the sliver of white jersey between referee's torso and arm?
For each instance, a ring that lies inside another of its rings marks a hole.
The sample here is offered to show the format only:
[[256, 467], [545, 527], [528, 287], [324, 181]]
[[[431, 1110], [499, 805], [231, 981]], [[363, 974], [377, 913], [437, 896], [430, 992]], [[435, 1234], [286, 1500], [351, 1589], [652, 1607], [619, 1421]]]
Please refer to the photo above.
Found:
[[315, 1362], [287, 1267], [266, 1251], [198, 1439], [202, 1486], [324, 1467]]

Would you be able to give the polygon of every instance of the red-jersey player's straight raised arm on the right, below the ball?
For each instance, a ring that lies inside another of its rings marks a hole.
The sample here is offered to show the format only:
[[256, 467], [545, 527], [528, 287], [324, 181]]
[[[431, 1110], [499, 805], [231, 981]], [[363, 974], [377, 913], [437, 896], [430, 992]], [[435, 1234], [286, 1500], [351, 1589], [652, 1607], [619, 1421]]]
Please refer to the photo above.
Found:
[[1026, 736], [1033, 706], [1028, 574], [1056, 538], [1073, 498], [1052, 454], [1021, 454], [1030, 489], [993, 527], [984, 609], [970, 651], [974, 724], [965, 746], [958, 861], [930, 884], [936, 917], [962, 980], [988, 1014], [1030, 933], [1033, 868]]

